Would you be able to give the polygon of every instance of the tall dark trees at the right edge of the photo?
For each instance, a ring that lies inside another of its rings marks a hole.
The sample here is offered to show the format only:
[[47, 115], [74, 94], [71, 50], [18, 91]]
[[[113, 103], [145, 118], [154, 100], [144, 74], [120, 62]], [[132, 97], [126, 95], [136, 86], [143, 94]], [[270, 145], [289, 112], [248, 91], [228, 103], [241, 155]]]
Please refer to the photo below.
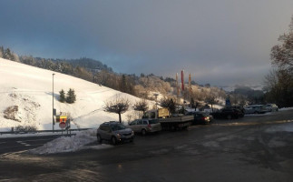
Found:
[[293, 106], [293, 15], [288, 33], [271, 48], [272, 70], [266, 76], [266, 100], [281, 107]]

